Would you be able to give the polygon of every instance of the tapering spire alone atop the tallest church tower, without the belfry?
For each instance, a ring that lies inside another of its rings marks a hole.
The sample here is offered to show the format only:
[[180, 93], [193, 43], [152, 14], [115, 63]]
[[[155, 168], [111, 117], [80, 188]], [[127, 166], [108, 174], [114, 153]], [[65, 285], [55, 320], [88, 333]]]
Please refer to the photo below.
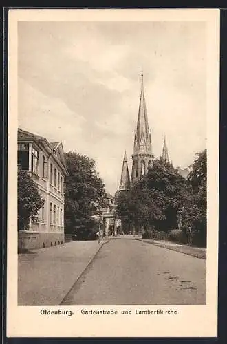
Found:
[[140, 105], [138, 112], [138, 121], [136, 127], [136, 136], [134, 140], [134, 154], [149, 153], [152, 154], [151, 136], [147, 119], [147, 107], [144, 96], [144, 74], [141, 73], [141, 91]]

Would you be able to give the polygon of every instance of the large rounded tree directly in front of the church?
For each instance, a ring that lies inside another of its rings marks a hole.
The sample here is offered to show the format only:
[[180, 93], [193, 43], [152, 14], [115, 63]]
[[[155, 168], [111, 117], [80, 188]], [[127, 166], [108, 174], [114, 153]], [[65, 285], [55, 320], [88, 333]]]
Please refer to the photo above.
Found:
[[148, 173], [117, 200], [116, 215], [135, 226], [169, 230], [177, 226], [186, 180], [162, 158], [154, 160]]

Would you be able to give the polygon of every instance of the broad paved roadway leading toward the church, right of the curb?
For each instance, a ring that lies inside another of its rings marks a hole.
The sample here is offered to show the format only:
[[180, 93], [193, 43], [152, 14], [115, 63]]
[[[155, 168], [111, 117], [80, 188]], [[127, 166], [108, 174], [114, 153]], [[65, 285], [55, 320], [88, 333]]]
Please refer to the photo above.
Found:
[[133, 239], [111, 239], [62, 305], [206, 303], [206, 260]]

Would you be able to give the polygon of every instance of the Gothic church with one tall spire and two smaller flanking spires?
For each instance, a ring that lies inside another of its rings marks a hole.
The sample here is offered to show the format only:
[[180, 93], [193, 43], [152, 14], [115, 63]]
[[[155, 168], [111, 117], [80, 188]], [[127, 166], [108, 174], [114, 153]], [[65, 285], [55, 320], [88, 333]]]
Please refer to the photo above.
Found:
[[[144, 80], [143, 74], [141, 74], [140, 105], [133, 144], [131, 178], [129, 175], [129, 167], [127, 163], [127, 153], [125, 151], [118, 192], [129, 190], [130, 187], [133, 186], [133, 184], [135, 184], [137, 180], [140, 180], [142, 175], [147, 173], [149, 166], [152, 166], [153, 158], [154, 155], [151, 141], [151, 132], [149, 130], [147, 107], [144, 96]], [[164, 159], [166, 162], [170, 162], [166, 138], [164, 138], [163, 143], [162, 159]]]

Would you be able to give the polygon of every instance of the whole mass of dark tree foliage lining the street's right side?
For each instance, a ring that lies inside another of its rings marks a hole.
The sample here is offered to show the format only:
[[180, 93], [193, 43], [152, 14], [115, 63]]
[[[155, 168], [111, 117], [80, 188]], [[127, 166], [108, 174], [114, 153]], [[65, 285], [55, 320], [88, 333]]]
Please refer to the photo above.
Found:
[[162, 158], [154, 160], [144, 177], [130, 191], [120, 193], [116, 215], [123, 223], [168, 232], [188, 228], [206, 245], [206, 150], [197, 153], [188, 180]]

